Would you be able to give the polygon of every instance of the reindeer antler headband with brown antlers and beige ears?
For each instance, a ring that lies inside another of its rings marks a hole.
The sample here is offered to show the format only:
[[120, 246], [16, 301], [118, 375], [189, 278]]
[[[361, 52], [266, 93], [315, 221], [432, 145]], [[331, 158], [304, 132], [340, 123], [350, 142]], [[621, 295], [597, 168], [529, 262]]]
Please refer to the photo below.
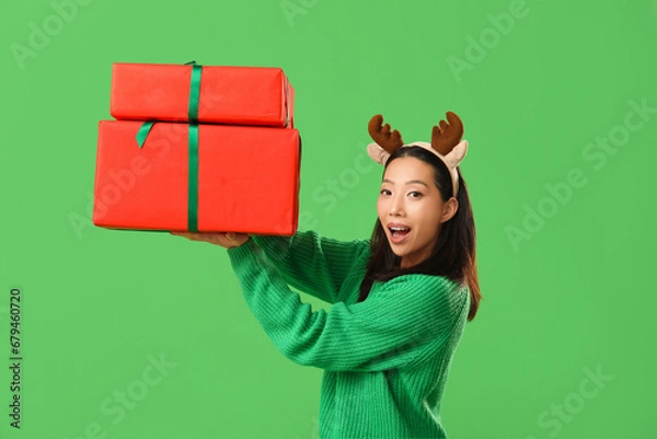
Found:
[[413, 142], [404, 145], [402, 135], [396, 129], [390, 131], [390, 124], [382, 125], [383, 116], [380, 114], [373, 116], [368, 124], [368, 131], [376, 143], [367, 146], [367, 153], [373, 161], [385, 165], [390, 155], [400, 148], [422, 147], [436, 154], [447, 165], [452, 178], [453, 196], [459, 193], [459, 173], [457, 166], [468, 152], [468, 140], [461, 140], [463, 137], [463, 123], [452, 112], [446, 113], [447, 120], [434, 126], [431, 130], [431, 142]]

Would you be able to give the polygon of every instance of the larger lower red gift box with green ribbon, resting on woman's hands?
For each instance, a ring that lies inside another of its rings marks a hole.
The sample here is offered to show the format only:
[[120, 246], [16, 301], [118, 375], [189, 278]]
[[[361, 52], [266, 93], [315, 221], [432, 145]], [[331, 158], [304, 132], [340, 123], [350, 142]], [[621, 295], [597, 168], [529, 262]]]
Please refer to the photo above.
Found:
[[[298, 130], [155, 123], [140, 148], [136, 135], [141, 126], [134, 120], [99, 124], [95, 226], [278, 235], [296, 232]], [[194, 143], [191, 130], [196, 127], [197, 160], [189, 147]], [[197, 229], [189, 228], [191, 216], [195, 216]]]

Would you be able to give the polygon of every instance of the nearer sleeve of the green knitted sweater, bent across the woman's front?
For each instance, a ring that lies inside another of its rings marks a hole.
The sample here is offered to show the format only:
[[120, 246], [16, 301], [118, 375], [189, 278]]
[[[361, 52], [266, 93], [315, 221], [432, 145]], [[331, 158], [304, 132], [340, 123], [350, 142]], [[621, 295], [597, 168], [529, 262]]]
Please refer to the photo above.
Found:
[[251, 240], [228, 251], [246, 303], [292, 361], [332, 371], [412, 366], [456, 327], [468, 294], [438, 276], [399, 276], [354, 304], [313, 311], [301, 302]]

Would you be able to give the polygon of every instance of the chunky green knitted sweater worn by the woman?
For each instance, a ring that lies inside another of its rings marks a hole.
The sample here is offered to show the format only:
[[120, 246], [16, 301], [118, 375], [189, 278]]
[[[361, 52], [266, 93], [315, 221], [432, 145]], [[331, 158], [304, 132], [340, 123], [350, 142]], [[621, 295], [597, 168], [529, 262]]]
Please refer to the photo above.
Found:
[[[403, 275], [358, 289], [369, 241], [315, 232], [252, 236], [228, 250], [246, 303], [292, 361], [324, 369], [320, 438], [446, 438], [440, 400], [470, 293], [446, 277]], [[326, 302], [313, 311], [292, 286]]]

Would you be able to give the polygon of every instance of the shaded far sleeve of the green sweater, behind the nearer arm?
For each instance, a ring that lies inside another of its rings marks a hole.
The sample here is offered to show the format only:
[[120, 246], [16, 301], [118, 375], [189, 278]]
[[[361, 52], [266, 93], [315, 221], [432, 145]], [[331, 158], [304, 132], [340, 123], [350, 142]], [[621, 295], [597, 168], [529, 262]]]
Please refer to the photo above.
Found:
[[290, 286], [328, 303], [344, 301], [342, 286], [369, 251], [369, 241], [337, 241], [316, 232], [293, 236], [252, 236]]

